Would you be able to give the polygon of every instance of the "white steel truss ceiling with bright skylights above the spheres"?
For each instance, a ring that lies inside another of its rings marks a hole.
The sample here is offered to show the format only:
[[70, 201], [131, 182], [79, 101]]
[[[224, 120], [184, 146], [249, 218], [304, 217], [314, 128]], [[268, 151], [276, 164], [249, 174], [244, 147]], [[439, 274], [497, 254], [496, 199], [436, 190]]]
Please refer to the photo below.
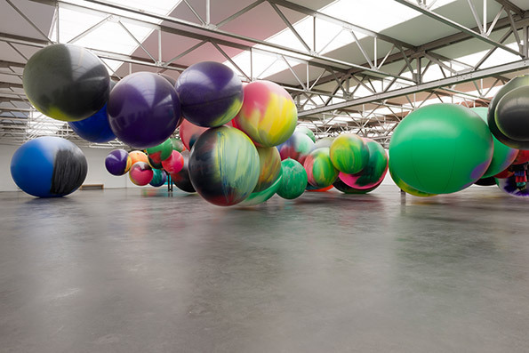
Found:
[[91, 49], [116, 80], [224, 62], [244, 82], [283, 85], [318, 136], [350, 131], [387, 146], [413, 109], [486, 106], [529, 73], [529, 1], [0, 0], [0, 143], [56, 134], [120, 145], [81, 140], [31, 107], [25, 63], [53, 43]]

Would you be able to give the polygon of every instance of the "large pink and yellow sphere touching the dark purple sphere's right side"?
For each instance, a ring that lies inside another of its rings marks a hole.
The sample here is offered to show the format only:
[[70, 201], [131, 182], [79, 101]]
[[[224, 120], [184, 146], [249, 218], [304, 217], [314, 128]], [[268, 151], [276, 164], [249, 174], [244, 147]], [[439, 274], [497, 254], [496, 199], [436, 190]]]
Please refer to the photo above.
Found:
[[234, 126], [263, 147], [288, 140], [296, 128], [298, 110], [290, 94], [279, 84], [255, 81], [244, 86], [243, 107]]

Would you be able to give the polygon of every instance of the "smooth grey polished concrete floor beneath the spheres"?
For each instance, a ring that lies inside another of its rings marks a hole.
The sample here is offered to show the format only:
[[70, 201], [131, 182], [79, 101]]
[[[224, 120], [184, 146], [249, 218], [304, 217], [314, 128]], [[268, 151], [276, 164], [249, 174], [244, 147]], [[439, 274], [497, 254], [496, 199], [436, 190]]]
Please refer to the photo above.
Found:
[[0, 193], [0, 351], [527, 352], [528, 202]]

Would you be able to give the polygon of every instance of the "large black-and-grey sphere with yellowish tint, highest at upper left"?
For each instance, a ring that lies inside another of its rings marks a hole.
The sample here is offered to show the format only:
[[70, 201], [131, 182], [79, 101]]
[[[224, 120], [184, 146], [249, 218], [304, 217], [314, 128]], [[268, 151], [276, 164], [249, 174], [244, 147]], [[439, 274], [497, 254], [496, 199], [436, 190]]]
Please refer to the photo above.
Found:
[[110, 78], [92, 52], [71, 44], [53, 44], [36, 52], [24, 68], [28, 100], [46, 116], [83, 120], [108, 100]]

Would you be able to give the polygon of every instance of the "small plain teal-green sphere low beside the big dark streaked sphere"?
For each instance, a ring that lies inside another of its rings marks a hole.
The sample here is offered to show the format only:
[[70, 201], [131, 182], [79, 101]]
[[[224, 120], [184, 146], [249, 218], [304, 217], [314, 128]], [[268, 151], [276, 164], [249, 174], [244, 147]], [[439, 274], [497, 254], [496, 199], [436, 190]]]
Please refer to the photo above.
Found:
[[281, 161], [281, 185], [277, 189], [277, 195], [293, 200], [303, 195], [306, 186], [307, 172], [303, 165], [291, 158]]

